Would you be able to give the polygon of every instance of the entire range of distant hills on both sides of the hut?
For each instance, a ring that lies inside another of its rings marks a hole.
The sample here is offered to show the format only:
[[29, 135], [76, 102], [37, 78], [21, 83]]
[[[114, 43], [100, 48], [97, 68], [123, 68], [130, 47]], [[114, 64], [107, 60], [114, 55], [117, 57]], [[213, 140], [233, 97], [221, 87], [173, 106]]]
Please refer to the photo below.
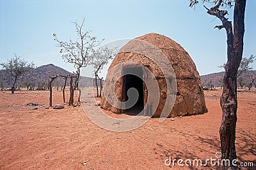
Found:
[[[60, 68], [59, 66], [55, 66], [52, 64], [49, 65], [43, 65], [39, 66], [37, 68], [32, 68], [29, 72], [24, 73], [20, 77], [18, 77], [17, 80], [17, 87], [38, 87], [46, 86], [47, 82], [49, 82], [51, 79], [49, 76], [54, 76], [56, 74], [60, 75], [72, 75], [72, 73], [68, 72], [67, 70], [64, 70], [63, 68]], [[223, 80], [224, 72], [218, 72], [218, 73], [210, 73], [207, 75], [200, 76], [201, 84], [202, 86], [222, 86], [222, 80]], [[256, 77], [256, 70], [253, 71], [246, 71], [243, 72], [240, 76], [240, 81], [244, 86], [247, 86], [246, 84], [252, 82], [251, 77]], [[12, 86], [12, 83], [14, 81], [14, 77], [10, 75], [10, 73], [6, 70], [0, 70], [0, 88], [10, 88]], [[68, 82], [67, 82], [68, 83]], [[83, 77], [81, 76], [80, 79], [80, 87], [88, 87], [92, 86], [93, 78], [90, 77]], [[63, 86], [64, 79], [61, 77], [58, 77], [52, 84], [53, 86]], [[237, 81], [237, 86], [239, 86], [239, 81]], [[67, 84], [68, 86], [68, 84]]]

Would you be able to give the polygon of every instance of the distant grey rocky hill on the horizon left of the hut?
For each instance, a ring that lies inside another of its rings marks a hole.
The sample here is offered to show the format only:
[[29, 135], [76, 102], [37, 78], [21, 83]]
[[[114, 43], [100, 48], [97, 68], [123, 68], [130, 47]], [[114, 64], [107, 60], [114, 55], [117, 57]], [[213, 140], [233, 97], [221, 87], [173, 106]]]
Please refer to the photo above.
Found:
[[[17, 79], [17, 87], [26, 88], [27, 86], [42, 86], [51, 80], [49, 76], [54, 76], [56, 74], [60, 75], [72, 75], [72, 73], [60, 68], [59, 66], [55, 66], [52, 64], [39, 66], [38, 68], [32, 68], [29, 72], [20, 75]], [[0, 70], [0, 86], [1, 88], [10, 88], [14, 81], [14, 77], [10, 75], [10, 73], [6, 70]], [[89, 77], [81, 77], [80, 85], [83, 86], [92, 86], [92, 78]], [[67, 82], [68, 83], [68, 82]], [[52, 84], [53, 86], [63, 86], [64, 79], [62, 77], [58, 77]], [[68, 84], [67, 84], [68, 86]]]

